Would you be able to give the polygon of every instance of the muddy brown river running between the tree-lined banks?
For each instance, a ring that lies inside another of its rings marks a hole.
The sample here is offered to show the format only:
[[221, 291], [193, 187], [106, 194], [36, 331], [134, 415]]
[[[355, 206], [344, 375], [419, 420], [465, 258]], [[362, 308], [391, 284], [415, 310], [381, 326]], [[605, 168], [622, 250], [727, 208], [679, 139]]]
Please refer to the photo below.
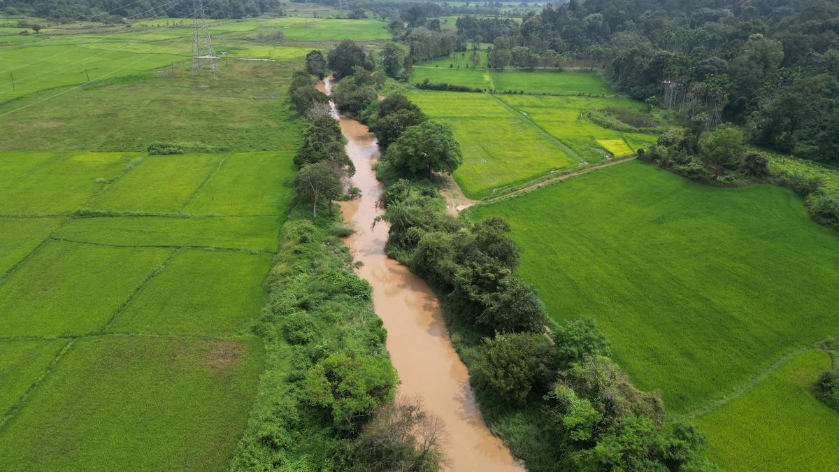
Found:
[[[331, 81], [318, 84], [331, 92]], [[477, 410], [466, 366], [451, 345], [434, 292], [404, 265], [384, 254], [388, 226], [373, 219], [383, 191], [373, 164], [379, 157], [376, 136], [356, 120], [341, 121], [347, 155], [356, 166], [352, 185], [362, 197], [341, 203], [347, 223], [356, 230], [347, 246], [362, 265], [358, 274], [373, 286], [373, 305], [388, 330], [388, 351], [399, 372], [399, 396], [422, 399], [425, 410], [439, 417], [446, 428], [443, 450], [449, 470], [524, 470], [503, 443], [492, 435]]]

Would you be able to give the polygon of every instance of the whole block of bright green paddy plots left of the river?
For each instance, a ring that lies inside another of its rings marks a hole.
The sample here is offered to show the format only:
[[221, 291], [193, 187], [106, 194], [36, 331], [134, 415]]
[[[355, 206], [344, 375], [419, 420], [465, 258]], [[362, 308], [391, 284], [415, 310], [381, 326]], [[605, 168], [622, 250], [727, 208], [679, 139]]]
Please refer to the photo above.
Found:
[[0, 155], [0, 469], [227, 469], [291, 157]]

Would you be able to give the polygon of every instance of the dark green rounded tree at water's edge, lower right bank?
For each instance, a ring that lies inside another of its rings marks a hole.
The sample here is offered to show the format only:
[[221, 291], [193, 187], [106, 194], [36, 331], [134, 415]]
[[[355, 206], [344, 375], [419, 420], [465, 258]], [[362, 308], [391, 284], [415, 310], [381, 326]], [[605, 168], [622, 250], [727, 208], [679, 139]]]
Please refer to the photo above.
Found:
[[504, 400], [524, 403], [539, 375], [548, 349], [545, 336], [534, 333], [498, 334], [484, 338], [482, 377]]

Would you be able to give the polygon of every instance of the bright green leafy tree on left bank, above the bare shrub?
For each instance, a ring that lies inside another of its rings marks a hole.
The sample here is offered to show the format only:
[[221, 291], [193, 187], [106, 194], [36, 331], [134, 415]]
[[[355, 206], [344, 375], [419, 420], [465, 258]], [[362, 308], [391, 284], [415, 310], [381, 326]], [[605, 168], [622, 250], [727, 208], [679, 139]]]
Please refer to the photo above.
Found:
[[332, 354], [306, 372], [305, 398], [329, 409], [336, 427], [355, 431], [378, 406], [393, 399], [396, 382], [385, 355]]

